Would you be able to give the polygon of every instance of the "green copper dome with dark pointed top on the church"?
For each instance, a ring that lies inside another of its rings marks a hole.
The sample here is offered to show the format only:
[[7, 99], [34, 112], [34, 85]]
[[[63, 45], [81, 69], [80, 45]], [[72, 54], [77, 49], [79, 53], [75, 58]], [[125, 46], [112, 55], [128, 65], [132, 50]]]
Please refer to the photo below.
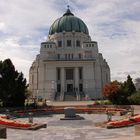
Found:
[[68, 9], [66, 13], [58, 18], [50, 27], [49, 35], [60, 32], [83, 32], [88, 33], [86, 24], [79, 18], [75, 17]]

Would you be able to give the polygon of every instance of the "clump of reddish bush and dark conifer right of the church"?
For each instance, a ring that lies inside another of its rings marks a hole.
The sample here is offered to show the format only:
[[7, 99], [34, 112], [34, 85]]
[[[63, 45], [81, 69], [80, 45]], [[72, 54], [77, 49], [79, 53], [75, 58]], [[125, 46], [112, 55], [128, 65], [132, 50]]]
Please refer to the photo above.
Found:
[[136, 92], [135, 85], [130, 75], [124, 83], [113, 81], [103, 88], [103, 96], [109, 99], [113, 104], [127, 105], [130, 104], [128, 97]]

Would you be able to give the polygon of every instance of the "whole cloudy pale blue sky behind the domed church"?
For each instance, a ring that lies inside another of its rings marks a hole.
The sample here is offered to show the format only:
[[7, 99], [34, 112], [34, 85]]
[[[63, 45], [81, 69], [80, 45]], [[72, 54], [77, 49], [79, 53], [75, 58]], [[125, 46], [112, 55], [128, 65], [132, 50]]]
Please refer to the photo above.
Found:
[[29, 68], [67, 5], [89, 29], [111, 69], [111, 80], [140, 77], [140, 0], [0, 0], [0, 60]]

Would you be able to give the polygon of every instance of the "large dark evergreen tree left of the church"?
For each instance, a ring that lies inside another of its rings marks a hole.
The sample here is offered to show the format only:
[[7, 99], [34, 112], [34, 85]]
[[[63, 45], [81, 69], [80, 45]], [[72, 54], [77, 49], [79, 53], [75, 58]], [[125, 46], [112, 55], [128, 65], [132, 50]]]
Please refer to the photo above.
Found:
[[4, 106], [23, 106], [25, 101], [26, 79], [15, 70], [10, 59], [0, 62], [0, 99]]

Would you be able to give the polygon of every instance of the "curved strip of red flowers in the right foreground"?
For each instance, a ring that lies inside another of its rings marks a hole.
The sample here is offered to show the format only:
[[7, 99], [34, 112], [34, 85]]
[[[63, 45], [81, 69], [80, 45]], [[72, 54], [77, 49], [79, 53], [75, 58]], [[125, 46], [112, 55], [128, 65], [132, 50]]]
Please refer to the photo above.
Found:
[[140, 115], [137, 114], [133, 117], [115, 120], [107, 123], [107, 128], [119, 128], [119, 127], [126, 127], [126, 126], [133, 126], [140, 123]]

